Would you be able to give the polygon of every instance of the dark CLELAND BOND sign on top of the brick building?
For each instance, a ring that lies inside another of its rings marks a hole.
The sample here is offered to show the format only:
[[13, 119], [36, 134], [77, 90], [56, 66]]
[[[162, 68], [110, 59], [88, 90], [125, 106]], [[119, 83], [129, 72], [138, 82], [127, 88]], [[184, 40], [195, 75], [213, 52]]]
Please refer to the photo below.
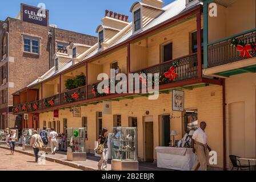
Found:
[[48, 10], [21, 4], [21, 16], [24, 22], [39, 24], [41, 26], [48, 26]]

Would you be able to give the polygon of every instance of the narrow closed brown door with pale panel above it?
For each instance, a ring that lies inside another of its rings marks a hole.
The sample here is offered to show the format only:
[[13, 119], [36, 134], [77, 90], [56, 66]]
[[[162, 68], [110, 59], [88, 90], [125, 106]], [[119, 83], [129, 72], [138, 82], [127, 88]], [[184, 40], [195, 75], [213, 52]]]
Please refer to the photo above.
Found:
[[154, 162], [154, 125], [153, 117], [144, 118], [144, 161]]

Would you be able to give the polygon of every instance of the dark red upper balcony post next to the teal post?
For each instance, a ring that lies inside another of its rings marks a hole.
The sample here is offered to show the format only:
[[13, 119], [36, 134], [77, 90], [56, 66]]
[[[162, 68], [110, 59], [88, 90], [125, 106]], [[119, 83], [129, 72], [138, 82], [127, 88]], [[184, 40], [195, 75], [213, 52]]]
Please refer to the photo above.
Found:
[[198, 64], [198, 77], [202, 77], [202, 33], [201, 33], [201, 13], [200, 9], [197, 13], [197, 64]]

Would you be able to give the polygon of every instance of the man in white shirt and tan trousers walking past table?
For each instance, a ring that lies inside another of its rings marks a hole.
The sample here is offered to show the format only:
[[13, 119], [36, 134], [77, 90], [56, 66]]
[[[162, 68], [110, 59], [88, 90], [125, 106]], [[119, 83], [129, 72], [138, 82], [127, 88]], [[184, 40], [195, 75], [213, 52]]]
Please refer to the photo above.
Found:
[[207, 136], [205, 134], [206, 122], [201, 122], [199, 129], [195, 130], [192, 137], [193, 152], [197, 154], [197, 161], [195, 162], [192, 171], [197, 171], [201, 166], [202, 171], [207, 171], [207, 148], [211, 151], [211, 148], [207, 145]]

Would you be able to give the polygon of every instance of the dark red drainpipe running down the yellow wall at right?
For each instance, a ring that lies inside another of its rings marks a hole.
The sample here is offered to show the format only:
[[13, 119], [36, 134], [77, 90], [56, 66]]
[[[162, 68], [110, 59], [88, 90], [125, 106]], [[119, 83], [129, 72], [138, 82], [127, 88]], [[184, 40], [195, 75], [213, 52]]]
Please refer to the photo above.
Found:
[[226, 171], [226, 88], [225, 79], [222, 80], [222, 108], [223, 108], [223, 170]]

